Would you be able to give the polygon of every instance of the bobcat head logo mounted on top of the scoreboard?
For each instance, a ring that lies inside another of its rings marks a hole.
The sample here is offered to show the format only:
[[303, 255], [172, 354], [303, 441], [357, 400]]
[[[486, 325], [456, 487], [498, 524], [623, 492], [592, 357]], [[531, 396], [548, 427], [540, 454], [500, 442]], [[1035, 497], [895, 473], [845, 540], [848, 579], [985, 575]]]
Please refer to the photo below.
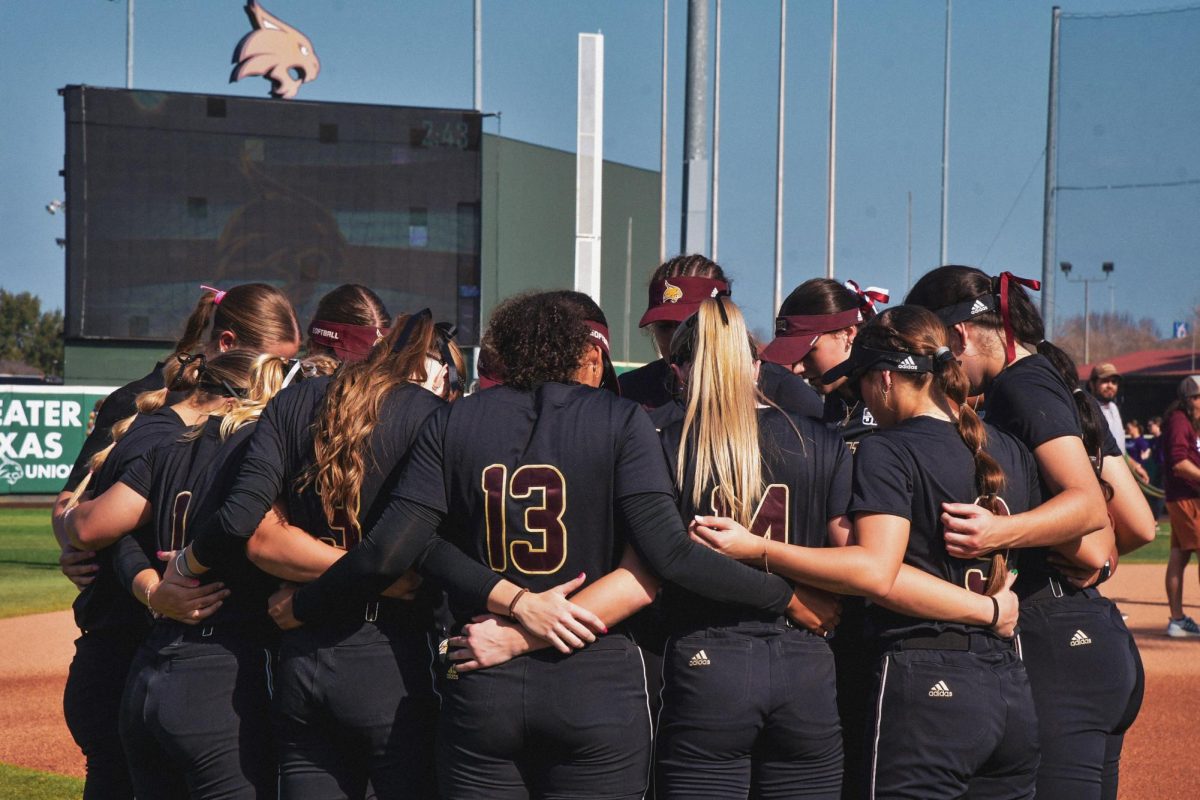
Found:
[[263, 76], [271, 82], [271, 97], [290, 100], [300, 84], [317, 79], [320, 61], [308, 37], [274, 17], [258, 5], [246, 4], [246, 16], [254, 30], [246, 34], [233, 50], [233, 72], [229, 83], [250, 76]]

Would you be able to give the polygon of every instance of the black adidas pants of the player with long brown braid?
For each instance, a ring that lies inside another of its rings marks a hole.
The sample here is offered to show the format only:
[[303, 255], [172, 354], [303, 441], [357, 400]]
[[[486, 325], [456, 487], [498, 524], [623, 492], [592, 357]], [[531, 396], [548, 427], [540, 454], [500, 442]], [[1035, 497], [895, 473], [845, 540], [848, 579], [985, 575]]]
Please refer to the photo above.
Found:
[[1038, 721], [1025, 667], [1010, 643], [988, 634], [926, 642], [948, 637], [968, 649], [910, 640], [883, 656], [868, 796], [1032, 798]]

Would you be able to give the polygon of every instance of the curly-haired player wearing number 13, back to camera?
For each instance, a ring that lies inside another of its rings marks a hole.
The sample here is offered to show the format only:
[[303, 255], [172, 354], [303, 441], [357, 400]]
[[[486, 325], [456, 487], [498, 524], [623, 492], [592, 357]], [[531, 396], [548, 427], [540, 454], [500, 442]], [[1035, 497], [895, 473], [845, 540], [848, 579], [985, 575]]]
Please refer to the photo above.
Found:
[[[595, 303], [577, 293], [511, 299], [494, 312], [488, 339], [504, 384], [434, 413], [383, 521], [298, 590], [298, 615], [361, 594], [355, 587], [365, 579], [394, 578], [408, 561], [396, 553], [438, 527], [446, 539], [434, 547], [466, 553], [481, 576], [451, 583], [458, 622], [487, 609], [524, 625], [530, 591], [612, 571], [626, 535], [666, 579], [784, 610], [785, 582], [688, 541], [649, 420], [635, 403], [594, 391], [611, 374]], [[640, 651], [617, 631], [570, 657], [539, 651], [491, 669], [450, 670], [439, 788], [446, 798], [640, 798], [649, 766], [646, 704]]]

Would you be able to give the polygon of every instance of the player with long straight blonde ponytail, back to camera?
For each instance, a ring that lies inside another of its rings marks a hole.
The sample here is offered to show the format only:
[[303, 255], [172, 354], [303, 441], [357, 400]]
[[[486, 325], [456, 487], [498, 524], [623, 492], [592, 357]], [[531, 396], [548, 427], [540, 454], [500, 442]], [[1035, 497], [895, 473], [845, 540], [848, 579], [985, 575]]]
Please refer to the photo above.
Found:
[[[702, 301], [676, 330], [670, 361], [686, 408], [660, 437], [684, 519], [728, 513], [764, 539], [809, 547], [847, 525], [850, 452], [815, 420], [755, 408], [755, 353], [732, 302]], [[824, 638], [676, 587], [662, 606], [671, 639], [658, 796], [838, 798], [841, 732]]]

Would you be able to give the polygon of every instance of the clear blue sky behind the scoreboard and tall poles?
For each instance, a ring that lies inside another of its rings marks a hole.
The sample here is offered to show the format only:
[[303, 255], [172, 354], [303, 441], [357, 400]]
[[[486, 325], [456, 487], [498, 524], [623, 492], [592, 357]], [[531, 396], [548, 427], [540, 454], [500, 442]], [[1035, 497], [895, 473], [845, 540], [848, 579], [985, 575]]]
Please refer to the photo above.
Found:
[[[1154, 2], [1088, 0], [1078, 7], [1064, 4], [1064, 11], [1128, 12]], [[134, 86], [264, 96], [268, 85], [262, 79], [227, 83], [229, 55], [248, 30], [242, 5], [139, 0]], [[472, 0], [264, 5], [308, 35], [320, 56], [320, 77], [304, 86], [304, 98], [472, 103]], [[774, 258], [779, 4], [726, 0], [724, 6], [720, 260], [737, 282], [739, 302], [766, 327]], [[1042, 0], [955, 2], [950, 261], [1026, 276], [1040, 271], [1051, 6]], [[61, 307], [64, 255], [54, 239], [64, 235], [64, 221], [44, 210], [50, 199], [62, 197], [58, 170], [64, 125], [56, 90], [73, 83], [124, 85], [125, 2], [6, 0], [2, 7], [0, 285], [32, 291], [48, 307]], [[840, 6], [836, 272], [887, 287], [896, 300], [905, 290], [907, 192], [913, 197], [913, 275], [938, 259], [944, 11], [942, 0], [842, 0]], [[1127, 29], [1109, 25], [1098, 35], [1091, 23], [1064, 23], [1070, 35], [1068, 40], [1064, 32], [1064, 59], [1068, 53], [1073, 59], [1064, 60], [1064, 82], [1080, 88], [1063, 110], [1064, 132], [1069, 130], [1074, 144], [1100, 144], [1087, 157], [1063, 158], [1070, 178], [1088, 184], [1100, 167], [1117, 163], [1122, 179], [1133, 176], [1133, 182], [1144, 176], [1164, 180], [1165, 174], [1183, 185], [1073, 193], [1060, 205], [1058, 258], [1073, 261], [1076, 275], [1099, 275], [1102, 260], [1115, 260], [1110, 285], [1116, 290], [1093, 291], [1093, 308], [1106, 309], [1111, 296], [1117, 311], [1153, 317], [1162, 333], [1200, 300], [1198, 271], [1189, 264], [1200, 249], [1200, 187], [1188, 182], [1200, 178], [1200, 103], [1192, 102], [1200, 90], [1194, 79], [1180, 79], [1194, 76], [1200, 62], [1200, 25], [1190, 24], [1198, 17], [1166, 32], [1152, 24], [1153, 17]], [[824, 269], [830, 18], [827, 1], [790, 1], [786, 288]], [[673, 252], [679, 246], [685, 0], [671, 0], [670, 20], [667, 245]], [[485, 0], [484, 104], [485, 110], [503, 113], [503, 127], [490, 120], [486, 130], [574, 150], [581, 31], [605, 34], [605, 156], [656, 169], [658, 0]], [[1175, 58], [1164, 70], [1175, 76], [1174, 83], [1157, 86], [1138, 77], [1139, 68], [1164, 60], [1168, 52]], [[1110, 82], [1114, 74], [1132, 78]], [[1092, 119], [1088, 113], [1100, 108], [1102, 100], [1136, 108], [1136, 119]], [[1168, 122], [1156, 125], [1160, 113]], [[1142, 136], [1164, 130], [1166, 134]], [[1181, 142], [1189, 151], [1182, 161], [1193, 163], [1157, 161], [1162, 148], [1178, 148]], [[1058, 281], [1056, 306], [1060, 319], [1080, 313], [1082, 287]]]

